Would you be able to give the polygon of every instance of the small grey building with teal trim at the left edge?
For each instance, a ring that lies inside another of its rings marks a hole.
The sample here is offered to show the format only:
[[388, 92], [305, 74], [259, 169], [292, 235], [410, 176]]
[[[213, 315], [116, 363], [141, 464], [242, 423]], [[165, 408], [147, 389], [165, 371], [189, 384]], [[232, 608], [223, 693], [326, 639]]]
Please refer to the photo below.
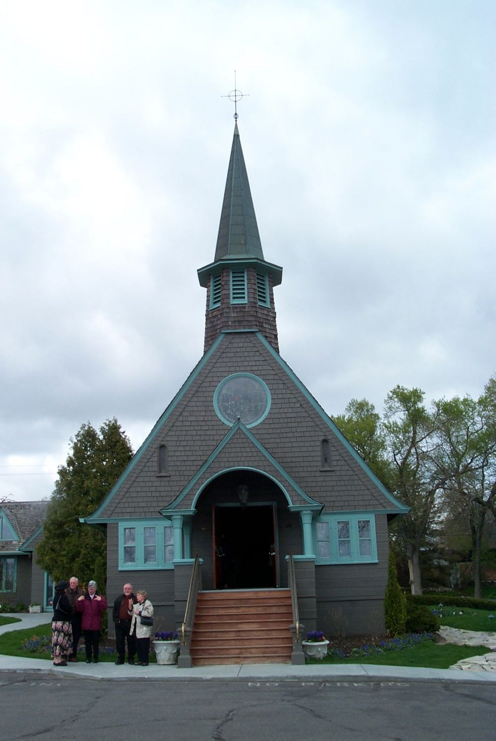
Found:
[[0, 505], [0, 604], [50, 607], [53, 585], [33, 551], [42, 538], [48, 502]]

